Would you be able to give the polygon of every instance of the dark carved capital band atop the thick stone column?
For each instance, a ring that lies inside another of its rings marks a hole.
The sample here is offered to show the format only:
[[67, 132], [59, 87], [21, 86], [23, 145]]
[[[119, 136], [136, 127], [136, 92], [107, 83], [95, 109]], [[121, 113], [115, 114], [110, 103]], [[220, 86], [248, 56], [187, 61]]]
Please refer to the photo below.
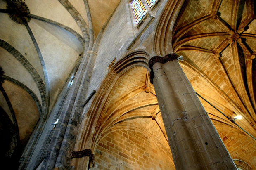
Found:
[[177, 54], [173, 53], [173, 54], [168, 54], [164, 57], [160, 57], [160, 56], [154, 56], [149, 60], [149, 68], [150, 68], [150, 74], [149, 74], [149, 79], [150, 79], [150, 83], [153, 84], [153, 79], [154, 79], [154, 71], [153, 71], [153, 65], [155, 63], [167, 63], [168, 61], [173, 61], [173, 60], [178, 60], [180, 56], [178, 56]]

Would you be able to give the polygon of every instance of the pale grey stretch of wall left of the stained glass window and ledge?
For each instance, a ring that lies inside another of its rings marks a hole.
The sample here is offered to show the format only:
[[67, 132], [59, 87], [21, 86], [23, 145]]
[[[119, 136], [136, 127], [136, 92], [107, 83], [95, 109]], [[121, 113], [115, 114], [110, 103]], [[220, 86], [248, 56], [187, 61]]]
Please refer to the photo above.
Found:
[[125, 3], [125, 0], [121, 0], [102, 35], [88, 95], [92, 90], [97, 89], [100, 85], [99, 80], [103, 80], [104, 76], [107, 75], [109, 64], [115, 58], [118, 61], [122, 56], [121, 54], [127, 52], [126, 46], [129, 44], [129, 36]]

